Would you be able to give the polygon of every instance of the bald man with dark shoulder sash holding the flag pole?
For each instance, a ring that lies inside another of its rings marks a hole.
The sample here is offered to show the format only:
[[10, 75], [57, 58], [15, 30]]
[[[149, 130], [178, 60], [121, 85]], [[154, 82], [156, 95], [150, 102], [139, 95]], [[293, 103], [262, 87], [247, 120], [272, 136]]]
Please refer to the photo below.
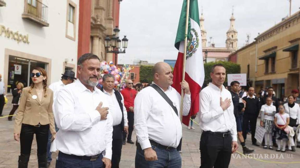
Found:
[[[135, 167], [181, 168], [181, 156], [176, 149], [182, 138], [181, 95], [171, 87], [173, 74], [169, 64], [156, 63], [152, 74], [154, 81], [141, 90], [134, 101], [138, 142]], [[185, 93], [183, 115], [187, 115], [191, 104], [190, 88], [186, 81], [180, 84]]]

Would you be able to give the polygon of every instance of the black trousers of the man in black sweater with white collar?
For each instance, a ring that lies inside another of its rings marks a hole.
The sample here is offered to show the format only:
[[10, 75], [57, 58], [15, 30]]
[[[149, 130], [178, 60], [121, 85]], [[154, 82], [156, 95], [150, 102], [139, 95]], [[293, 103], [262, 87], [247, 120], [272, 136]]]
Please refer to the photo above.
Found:
[[244, 115], [242, 130], [243, 130], [243, 137], [244, 137], [245, 141], [247, 139], [247, 129], [248, 129], [249, 122], [250, 122], [250, 131], [251, 131], [252, 143], [256, 143], [256, 139], [254, 138], [255, 130], [256, 130], [256, 121], [257, 121], [256, 119], [257, 119], [256, 116]]

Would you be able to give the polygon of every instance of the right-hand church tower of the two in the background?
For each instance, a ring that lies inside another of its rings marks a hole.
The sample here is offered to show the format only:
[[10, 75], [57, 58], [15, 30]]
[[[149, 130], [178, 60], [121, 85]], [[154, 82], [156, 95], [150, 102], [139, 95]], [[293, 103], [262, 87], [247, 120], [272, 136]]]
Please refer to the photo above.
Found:
[[230, 28], [227, 31], [226, 48], [237, 50], [238, 48], [238, 31], [235, 30], [235, 18], [233, 12], [230, 18]]

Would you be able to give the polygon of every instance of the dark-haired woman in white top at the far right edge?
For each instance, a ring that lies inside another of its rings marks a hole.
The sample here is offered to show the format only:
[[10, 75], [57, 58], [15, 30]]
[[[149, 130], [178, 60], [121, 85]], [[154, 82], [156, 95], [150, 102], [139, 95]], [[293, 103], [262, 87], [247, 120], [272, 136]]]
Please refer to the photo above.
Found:
[[[283, 106], [285, 108], [285, 112], [289, 114], [289, 126], [298, 127], [300, 123], [300, 107], [298, 103], [295, 103], [295, 99], [293, 95], [289, 95], [287, 97], [288, 103], [285, 103]], [[293, 139], [289, 140], [288, 147], [290, 151], [295, 152], [295, 136]]]

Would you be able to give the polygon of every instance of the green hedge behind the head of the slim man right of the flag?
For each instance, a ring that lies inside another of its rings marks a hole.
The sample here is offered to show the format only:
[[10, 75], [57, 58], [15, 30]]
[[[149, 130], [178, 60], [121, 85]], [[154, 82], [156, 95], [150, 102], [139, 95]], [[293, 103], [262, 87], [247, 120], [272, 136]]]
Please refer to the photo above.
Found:
[[[209, 82], [211, 82], [210, 78], [210, 71], [212, 66], [215, 64], [222, 64], [226, 68], [226, 74], [239, 74], [241, 73], [241, 66], [239, 64], [233, 63], [233, 62], [224, 62], [224, 61], [218, 61], [218, 62], [208, 62], [204, 64], [204, 71], [205, 71], [205, 78], [203, 86], [206, 86]], [[225, 85], [227, 85], [227, 75], [226, 80], [224, 82]]]

